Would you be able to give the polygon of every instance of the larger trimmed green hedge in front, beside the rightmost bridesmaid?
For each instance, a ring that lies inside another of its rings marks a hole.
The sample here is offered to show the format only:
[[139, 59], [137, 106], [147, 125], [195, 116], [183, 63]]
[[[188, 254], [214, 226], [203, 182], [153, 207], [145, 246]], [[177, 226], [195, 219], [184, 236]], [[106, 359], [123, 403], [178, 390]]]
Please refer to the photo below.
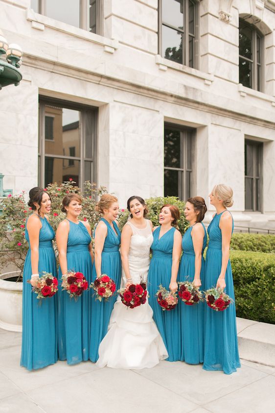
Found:
[[238, 317], [275, 324], [275, 255], [230, 251]]

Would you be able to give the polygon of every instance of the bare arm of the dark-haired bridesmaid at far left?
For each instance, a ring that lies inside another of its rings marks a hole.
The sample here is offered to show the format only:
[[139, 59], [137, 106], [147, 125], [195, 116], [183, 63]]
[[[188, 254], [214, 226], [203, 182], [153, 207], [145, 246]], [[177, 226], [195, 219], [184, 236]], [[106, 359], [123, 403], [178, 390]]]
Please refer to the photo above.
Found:
[[33, 287], [36, 286], [39, 273], [38, 273], [38, 262], [39, 262], [39, 232], [42, 228], [41, 221], [39, 217], [35, 214], [31, 215], [27, 221], [27, 230], [29, 233], [29, 243], [30, 243], [30, 262], [31, 262], [31, 272], [32, 276], [30, 283]]

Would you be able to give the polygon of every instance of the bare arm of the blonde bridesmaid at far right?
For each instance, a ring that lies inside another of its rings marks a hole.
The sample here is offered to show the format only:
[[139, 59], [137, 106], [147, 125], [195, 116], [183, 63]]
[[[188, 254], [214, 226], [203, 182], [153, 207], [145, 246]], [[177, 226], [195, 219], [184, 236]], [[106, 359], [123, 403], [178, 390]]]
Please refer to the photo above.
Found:
[[216, 287], [226, 288], [225, 275], [229, 262], [229, 248], [232, 232], [232, 217], [229, 212], [224, 213], [220, 219], [220, 228], [222, 231], [222, 267]]

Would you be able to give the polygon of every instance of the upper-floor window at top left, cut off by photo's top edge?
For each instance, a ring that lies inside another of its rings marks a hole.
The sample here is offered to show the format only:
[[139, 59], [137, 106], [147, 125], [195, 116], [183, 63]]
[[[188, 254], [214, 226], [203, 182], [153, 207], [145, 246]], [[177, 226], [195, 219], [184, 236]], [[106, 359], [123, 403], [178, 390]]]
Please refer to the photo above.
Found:
[[103, 0], [31, 0], [31, 8], [60, 22], [102, 34]]

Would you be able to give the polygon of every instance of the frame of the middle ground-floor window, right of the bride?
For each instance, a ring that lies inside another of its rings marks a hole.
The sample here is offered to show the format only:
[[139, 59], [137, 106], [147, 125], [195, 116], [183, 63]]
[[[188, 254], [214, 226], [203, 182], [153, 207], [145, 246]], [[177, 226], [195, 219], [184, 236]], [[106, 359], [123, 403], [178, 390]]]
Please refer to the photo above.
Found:
[[[187, 188], [186, 188], [186, 172], [191, 173], [191, 179], [190, 179], [190, 196], [195, 191], [195, 137], [196, 137], [196, 129], [188, 127], [188, 126], [183, 126], [183, 125], [178, 125], [175, 123], [169, 123], [169, 122], [164, 122], [164, 129], [163, 129], [163, 146], [165, 146], [165, 129], [171, 129], [171, 130], [176, 130], [180, 132], [180, 139], [181, 142], [183, 142], [183, 146], [181, 144], [181, 156], [183, 156], [183, 168], [173, 168], [173, 167], [163, 167], [163, 196], [164, 191], [165, 191], [165, 176], [164, 176], [164, 171], [165, 170], [178, 170], [182, 172], [182, 200], [186, 200], [189, 195], [186, 194]], [[190, 138], [191, 138], [191, 169], [187, 168], [187, 133], [190, 133]], [[165, 159], [163, 159], [163, 164], [165, 165]], [[168, 196], [168, 195], [167, 195]], [[181, 196], [178, 195], [171, 195], [171, 196], [178, 196], [181, 199]]]

